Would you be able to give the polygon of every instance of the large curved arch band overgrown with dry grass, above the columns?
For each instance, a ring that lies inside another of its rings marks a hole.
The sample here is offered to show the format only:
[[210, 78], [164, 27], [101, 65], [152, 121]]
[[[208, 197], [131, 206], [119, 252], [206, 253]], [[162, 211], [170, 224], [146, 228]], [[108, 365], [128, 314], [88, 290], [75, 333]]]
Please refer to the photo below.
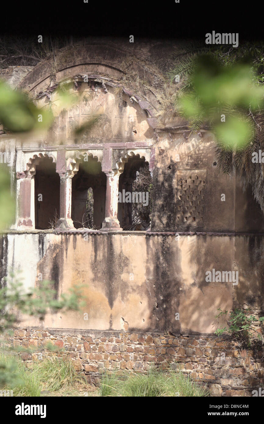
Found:
[[[155, 80], [158, 86], [158, 81], [161, 82], [164, 77], [155, 64], [144, 59], [141, 49], [134, 47], [132, 50], [127, 43], [119, 42], [115, 45], [103, 39], [86, 45], [77, 43], [58, 50], [55, 57], [50, 56], [37, 64], [23, 78], [18, 88], [30, 91], [35, 97], [65, 78], [85, 74], [89, 78], [101, 78], [110, 86], [121, 86], [126, 94], [133, 97], [132, 101], [139, 102], [140, 107], [153, 116], [159, 102], [152, 82]], [[128, 78], [124, 77], [128, 73], [139, 75], [145, 84], [137, 84], [135, 90], [129, 84], [126, 86], [125, 80]]]

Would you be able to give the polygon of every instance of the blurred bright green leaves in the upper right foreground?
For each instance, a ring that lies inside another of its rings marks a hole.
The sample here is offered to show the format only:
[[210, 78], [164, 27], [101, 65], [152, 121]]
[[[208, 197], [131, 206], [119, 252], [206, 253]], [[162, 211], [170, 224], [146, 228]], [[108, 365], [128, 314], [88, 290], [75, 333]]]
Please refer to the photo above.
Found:
[[264, 95], [264, 87], [253, 84], [250, 63], [244, 60], [223, 66], [210, 54], [197, 56], [188, 87], [180, 107], [191, 128], [206, 123], [226, 148], [250, 143], [254, 137], [252, 112], [263, 107]]

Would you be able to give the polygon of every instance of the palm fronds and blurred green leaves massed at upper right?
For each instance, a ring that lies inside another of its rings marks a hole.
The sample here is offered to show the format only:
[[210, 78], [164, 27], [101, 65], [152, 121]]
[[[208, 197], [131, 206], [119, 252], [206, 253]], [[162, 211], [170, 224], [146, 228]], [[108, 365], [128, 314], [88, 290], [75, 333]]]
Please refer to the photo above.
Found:
[[[181, 77], [175, 107], [189, 119], [192, 131], [214, 130], [220, 172], [236, 173], [243, 190], [251, 186], [264, 211], [264, 167], [252, 163], [252, 153], [264, 151], [264, 44], [190, 45], [174, 59], [170, 78]], [[225, 122], [220, 121], [222, 114]]]

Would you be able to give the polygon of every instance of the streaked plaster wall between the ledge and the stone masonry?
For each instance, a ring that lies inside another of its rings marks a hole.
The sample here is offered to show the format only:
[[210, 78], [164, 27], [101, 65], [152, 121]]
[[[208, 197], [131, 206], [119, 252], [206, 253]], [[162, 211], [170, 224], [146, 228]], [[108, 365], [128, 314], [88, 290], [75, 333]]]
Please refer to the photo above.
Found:
[[[208, 334], [219, 307], [263, 307], [261, 235], [22, 232], [5, 234], [1, 249], [2, 278], [20, 268], [25, 287], [38, 284], [40, 273], [58, 294], [84, 286], [83, 310], [47, 315], [49, 328]], [[238, 284], [206, 282], [213, 268], [238, 271]], [[22, 323], [36, 326], [35, 319]]]

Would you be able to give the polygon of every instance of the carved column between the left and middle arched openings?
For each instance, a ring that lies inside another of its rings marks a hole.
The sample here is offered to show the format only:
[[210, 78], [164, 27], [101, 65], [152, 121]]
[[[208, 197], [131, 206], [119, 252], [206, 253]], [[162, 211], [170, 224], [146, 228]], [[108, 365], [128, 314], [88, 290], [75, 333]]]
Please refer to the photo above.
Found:
[[74, 228], [71, 218], [72, 213], [72, 177], [73, 173], [67, 171], [56, 171], [60, 176], [60, 219], [56, 228]]

